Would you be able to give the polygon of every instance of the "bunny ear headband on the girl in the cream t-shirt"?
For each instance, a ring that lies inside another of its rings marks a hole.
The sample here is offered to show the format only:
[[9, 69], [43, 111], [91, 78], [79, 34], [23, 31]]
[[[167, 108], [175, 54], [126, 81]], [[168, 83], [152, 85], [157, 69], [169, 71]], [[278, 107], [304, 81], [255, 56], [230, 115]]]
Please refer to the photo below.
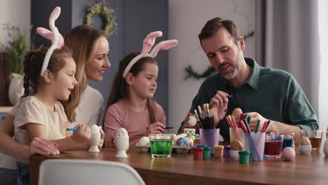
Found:
[[64, 46], [64, 38], [62, 37], [62, 34], [58, 31], [57, 27], [55, 26], [55, 20], [60, 15], [60, 7], [57, 6], [53, 12], [50, 14], [49, 18], [49, 27], [50, 30], [43, 27], [38, 27], [36, 29], [36, 32], [38, 32], [41, 36], [51, 41], [51, 46], [48, 49], [46, 56], [44, 57], [42, 68], [41, 68], [41, 76], [43, 76], [44, 71], [48, 68], [49, 60], [51, 57], [51, 54], [53, 54], [53, 50], [60, 49], [62, 46]]

